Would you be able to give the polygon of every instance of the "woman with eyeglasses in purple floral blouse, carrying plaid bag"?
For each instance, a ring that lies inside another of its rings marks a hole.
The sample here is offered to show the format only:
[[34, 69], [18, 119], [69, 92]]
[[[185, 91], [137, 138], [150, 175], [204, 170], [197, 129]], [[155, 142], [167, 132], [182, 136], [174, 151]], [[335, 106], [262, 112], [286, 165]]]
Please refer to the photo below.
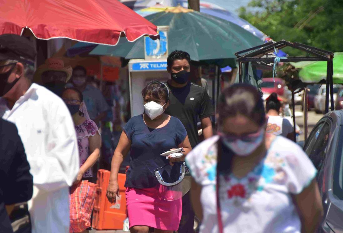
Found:
[[[76, 186], [80, 186], [80, 182], [88, 181], [94, 183], [92, 167], [99, 158], [100, 147], [101, 147], [101, 136], [99, 130], [94, 121], [89, 119], [85, 103], [83, 102], [83, 96], [81, 91], [76, 88], [67, 88], [62, 93], [62, 99], [66, 103], [72, 119], [75, 125], [76, 137], [78, 139], [79, 155], [80, 155], [80, 170], [74, 185], [71, 187], [72, 190]], [[93, 194], [87, 194], [88, 197], [94, 197], [95, 189]], [[87, 198], [88, 199], [88, 198]], [[89, 200], [88, 209], [86, 210], [86, 215], [88, 219], [85, 219], [85, 225], [90, 226], [90, 218], [92, 212], [92, 206], [94, 205], [93, 200]], [[72, 206], [71, 201], [71, 206]], [[71, 219], [73, 219], [73, 210], [70, 211]], [[88, 232], [84, 227], [83, 231], [78, 229], [74, 231], [71, 223], [70, 232]]]

